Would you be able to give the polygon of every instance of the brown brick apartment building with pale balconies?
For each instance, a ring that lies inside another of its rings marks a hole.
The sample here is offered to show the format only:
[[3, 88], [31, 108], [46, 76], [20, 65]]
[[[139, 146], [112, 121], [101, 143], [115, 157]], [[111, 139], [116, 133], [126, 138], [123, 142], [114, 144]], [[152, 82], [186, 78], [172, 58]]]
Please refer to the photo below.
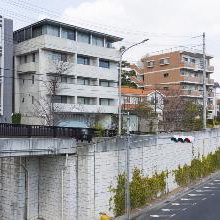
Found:
[[[208, 118], [215, 116], [214, 80], [211, 74], [213, 57], [206, 55], [206, 90]], [[203, 104], [203, 54], [199, 51], [177, 50], [145, 56], [141, 67], [132, 65], [137, 73], [133, 81], [139, 87], [163, 91], [167, 96], [180, 96]]]

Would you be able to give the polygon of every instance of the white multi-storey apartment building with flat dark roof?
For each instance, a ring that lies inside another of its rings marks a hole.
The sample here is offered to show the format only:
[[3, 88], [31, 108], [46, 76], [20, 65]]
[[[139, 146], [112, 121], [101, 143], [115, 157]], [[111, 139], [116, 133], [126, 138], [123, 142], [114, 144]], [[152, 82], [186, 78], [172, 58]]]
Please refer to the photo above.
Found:
[[[118, 61], [113, 43], [122, 38], [44, 19], [14, 32], [15, 112], [22, 123], [44, 123], [36, 111], [59, 76], [54, 109], [59, 125], [88, 127], [88, 115], [101, 114], [110, 128], [118, 113]], [[33, 115], [35, 117], [33, 117]]]

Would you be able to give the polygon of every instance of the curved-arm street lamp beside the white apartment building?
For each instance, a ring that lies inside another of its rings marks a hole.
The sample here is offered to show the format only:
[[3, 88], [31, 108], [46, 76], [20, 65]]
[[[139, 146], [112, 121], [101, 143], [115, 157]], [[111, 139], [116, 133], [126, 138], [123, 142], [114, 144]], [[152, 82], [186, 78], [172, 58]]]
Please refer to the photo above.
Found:
[[122, 117], [121, 117], [121, 73], [122, 73], [122, 57], [124, 55], [124, 53], [126, 51], [128, 51], [129, 49], [131, 49], [132, 47], [135, 47], [139, 44], [143, 44], [145, 42], [147, 42], [149, 39], [145, 39], [145, 40], [142, 40], [141, 42], [138, 42], [138, 43], [135, 43], [133, 45], [131, 45], [130, 47], [128, 48], [121, 48], [121, 54], [120, 54], [120, 64], [119, 64], [119, 110], [118, 110], [118, 135], [121, 136], [121, 123], [122, 123]]

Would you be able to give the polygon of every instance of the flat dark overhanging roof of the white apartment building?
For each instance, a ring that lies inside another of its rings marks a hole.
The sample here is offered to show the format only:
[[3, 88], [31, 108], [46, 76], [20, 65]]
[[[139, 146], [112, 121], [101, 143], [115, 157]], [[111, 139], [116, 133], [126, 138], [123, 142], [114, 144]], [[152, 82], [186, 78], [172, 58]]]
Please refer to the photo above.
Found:
[[56, 25], [56, 26], [62, 26], [62, 27], [70, 28], [70, 29], [79, 30], [79, 31], [82, 31], [82, 32], [93, 33], [93, 34], [96, 34], [96, 35], [99, 35], [99, 36], [104, 36], [104, 37], [106, 37], [106, 38], [108, 38], [108, 39], [111, 39], [111, 40], [114, 41], [114, 42], [123, 40], [123, 38], [121, 38], [121, 37], [117, 37], [117, 36], [105, 34], [105, 33], [98, 32], [98, 31], [93, 31], [93, 30], [90, 30], [90, 29], [78, 27], [78, 26], [71, 25], [71, 24], [66, 24], [66, 23], [63, 23], [63, 22], [60, 22], [60, 21], [51, 20], [51, 19], [48, 19], [48, 18], [43, 19], [43, 20], [38, 21], [38, 22], [35, 22], [35, 23], [33, 23], [33, 24], [31, 24], [31, 25], [28, 25], [28, 26], [26, 26], [26, 27], [20, 28], [20, 29], [14, 31], [14, 33], [19, 32], [19, 31], [22, 31], [22, 30], [24, 30], [24, 29], [31, 28], [31, 27], [42, 26], [42, 25], [45, 25], [45, 24], [51, 24], [51, 25]]

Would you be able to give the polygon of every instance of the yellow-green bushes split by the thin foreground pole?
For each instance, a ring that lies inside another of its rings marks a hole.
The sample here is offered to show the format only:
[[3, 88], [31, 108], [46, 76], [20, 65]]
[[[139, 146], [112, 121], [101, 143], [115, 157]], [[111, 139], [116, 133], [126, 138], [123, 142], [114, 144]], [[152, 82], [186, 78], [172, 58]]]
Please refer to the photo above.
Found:
[[[115, 216], [122, 215], [125, 212], [125, 183], [126, 175], [123, 173], [117, 178], [116, 188], [110, 187], [110, 191], [114, 194], [110, 199], [110, 207], [112, 206], [111, 203], [114, 203]], [[135, 168], [130, 182], [131, 209], [146, 205], [150, 200], [163, 194], [165, 188], [165, 172], [155, 173], [152, 177], [145, 177], [138, 168]]]

